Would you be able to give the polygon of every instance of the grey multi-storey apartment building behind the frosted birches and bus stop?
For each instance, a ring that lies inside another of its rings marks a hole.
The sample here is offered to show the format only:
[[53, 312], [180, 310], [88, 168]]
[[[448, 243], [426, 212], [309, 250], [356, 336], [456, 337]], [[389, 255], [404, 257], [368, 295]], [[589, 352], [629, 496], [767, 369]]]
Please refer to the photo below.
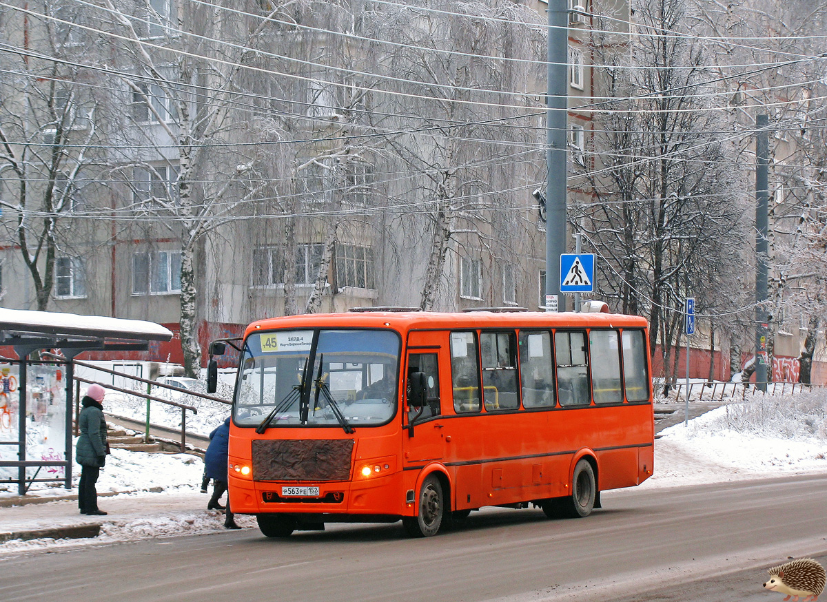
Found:
[[[6, 56], [19, 76], [3, 98], [4, 133], [21, 117], [12, 147], [38, 167], [3, 181], [0, 303], [179, 332], [183, 292], [202, 345], [284, 313], [541, 307], [543, 2], [492, 4], [481, 22], [448, 4], [409, 21], [331, 8], [303, 26], [248, 4], [222, 18], [169, 0], [2, 14], [38, 55]], [[572, 174], [595, 144], [593, 10], [571, 5]], [[210, 23], [200, 38], [196, 22]], [[364, 41], [381, 31], [398, 35]], [[40, 249], [34, 272], [21, 241]], [[151, 359], [181, 361], [179, 346]]]

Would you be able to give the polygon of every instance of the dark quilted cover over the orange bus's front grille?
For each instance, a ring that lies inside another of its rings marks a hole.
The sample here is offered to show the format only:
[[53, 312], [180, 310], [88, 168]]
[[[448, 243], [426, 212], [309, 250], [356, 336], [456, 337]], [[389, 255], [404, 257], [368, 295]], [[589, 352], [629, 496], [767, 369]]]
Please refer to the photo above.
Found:
[[252, 443], [253, 480], [350, 480], [353, 439]]

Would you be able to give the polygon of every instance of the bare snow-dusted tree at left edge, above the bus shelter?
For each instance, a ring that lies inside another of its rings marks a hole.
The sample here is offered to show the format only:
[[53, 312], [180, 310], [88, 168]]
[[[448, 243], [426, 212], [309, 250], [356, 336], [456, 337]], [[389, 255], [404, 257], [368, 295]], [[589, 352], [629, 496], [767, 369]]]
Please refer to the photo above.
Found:
[[[29, 4], [31, 12], [10, 12], [5, 31], [26, 36], [17, 51], [0, 55], [0, 174], [3, 227], [7, 244], [20, 251], [35, 291], [36, 308], [45, 310], [55, 289], [55, 260], [77, 264], [81, 224], [60, 222], [84, 213], [83, 198], [95, 187], [106, 164], [99, 146], [106, 140], [107, 103], [94, 74], [74, 65], [71, 55], [93, 44], [74, 26], [76, 12], [60, 2]], [[50, 20], [57, 17], [60, 20]], [[16, 26], [17, 25], [17, 26]], [[69, 269], [69, 268], [67, 268]], [[61, 276], [64, 274], [61, 273]], [[79, 291], [76, 291], [77, 294]], [[62, 289], [60, 294], [66, 294]]]

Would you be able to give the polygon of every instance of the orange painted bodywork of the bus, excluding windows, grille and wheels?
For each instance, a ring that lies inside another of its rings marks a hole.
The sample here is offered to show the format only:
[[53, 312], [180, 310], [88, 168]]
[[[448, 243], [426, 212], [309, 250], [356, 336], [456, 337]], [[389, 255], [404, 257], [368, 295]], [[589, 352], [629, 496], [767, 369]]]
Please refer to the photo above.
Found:
[[[385, 328], [399, 332], [398, 390], [403, 392], [390, 423], [358, 427], [347, 434], [339, 427], [254, 428], [232, 423], [229, 489], [232, 511], [238, 514], [284, 513], [317, 516], [322, 521], [415, 516], [411, 496], [433, 472], [447, 485], [452, 510], [520, 504], [571, 494], [576, 462], [589, 457], [596, 466], [599, 491], [638, 485], [653, 473], [654, 415], [651, 366], [648, 400], [640, 403], [592, 404], [577, 408], [524, 409], [457, 413], [452, 404], [450, 336], [454, 331], [550, 331], [556, 328], [635, 329], [646, 332], [644, 318], [607, 313], [342, 313], [272, 318], [254, 322], [255, 332], [311, 328]], [[646, 332], [648, 341], [648, 332]], [[553, 337], [552, 337], [553, 338]], [[410, 354], [438, 356], [440, 414], [415, 423], [413, 433], [405, 411], [404, 375]], [[330, 482], [254, 480], [233, 466], [251, 466], [252, 442], [351, 440], [350, 479]], [[390, 468], [362, 479], [363, 466], [381, 462]], [[318, 485], [319, 499], [265, 501], [282, 486]], [[341, 500], [325, 501], [326, 495]]]

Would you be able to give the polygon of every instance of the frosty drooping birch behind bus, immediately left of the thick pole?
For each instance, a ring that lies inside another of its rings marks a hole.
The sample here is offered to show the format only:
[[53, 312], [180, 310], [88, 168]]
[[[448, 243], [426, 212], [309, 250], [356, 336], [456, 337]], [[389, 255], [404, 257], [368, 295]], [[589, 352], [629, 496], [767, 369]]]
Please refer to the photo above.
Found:
[[[416, 257], [400, 271], [403, 278], [418, 275], [423, 309], [454, 306], [453, 299], [440, 302], [452, 252], [489, 256], [495, 268], [490, 270], [492, 283], [502, 267], [495, 264], [502, 264], [503, 257], [530, 255], [526, 249], [532, 238], [523, 236], [527, 232], [512, 229], [510, 236], [500, 236], [522, 223], [514, 193], [500, 190], [542, 177], [536, 172], [526, 176], [526, 168], [509, 159], [519, 143], [537, 144], [539, 132], [526, 127], [537, 122], [527, 115], [537, 109], [522, 97], [496, 92], [540, 81], [536, 65], [511, 60], [541, 57], [544, 38], [537, 13], [511, 2], [428, 7], [435, 11], [385, 7], [370, 21], [370, 36], [396, 45], [366, 49], [370, 63], [383, 68], [379, 74], [393, 78], [384, 84], [387, 93], [373, 94], [377, 110], [370, 118], [390, 150], [390, 165], [411, 174], [389, 195], [404, 207], [398, 211], [398, 227], [409, 256]], [[496, 299], [502, 285], [491, 286], [486, 292], [475, 284], [468, 296]]]

